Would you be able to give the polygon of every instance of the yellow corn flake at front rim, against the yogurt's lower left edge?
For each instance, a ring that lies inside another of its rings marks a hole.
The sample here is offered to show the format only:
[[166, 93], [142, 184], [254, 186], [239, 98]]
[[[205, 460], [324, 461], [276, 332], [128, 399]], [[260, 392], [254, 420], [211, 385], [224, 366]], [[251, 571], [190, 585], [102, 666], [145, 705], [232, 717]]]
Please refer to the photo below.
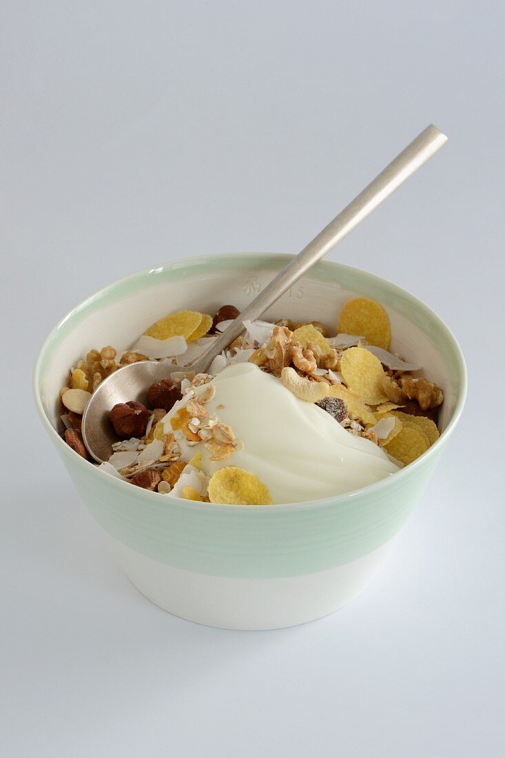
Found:
[[220, 468], [212, 475], [209, 500], [230, 506], [271, 506], [268, 487], [250, 471], [236, 466]]

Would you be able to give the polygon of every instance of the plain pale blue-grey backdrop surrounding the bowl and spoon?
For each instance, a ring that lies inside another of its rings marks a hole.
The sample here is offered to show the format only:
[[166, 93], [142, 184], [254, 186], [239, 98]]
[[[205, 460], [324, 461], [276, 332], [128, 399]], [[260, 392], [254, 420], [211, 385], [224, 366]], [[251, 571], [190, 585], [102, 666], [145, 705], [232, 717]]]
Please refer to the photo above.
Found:
[[[502, 11], [2, 4], [2, 756], [503, 756]], [[448, 145], [330, 256], [425, 300], [466, 354], [422, 502], [327, 619], [168, 615], [36, 418], [42, 338], [136, 269], [297, 252], [430, 121]]]

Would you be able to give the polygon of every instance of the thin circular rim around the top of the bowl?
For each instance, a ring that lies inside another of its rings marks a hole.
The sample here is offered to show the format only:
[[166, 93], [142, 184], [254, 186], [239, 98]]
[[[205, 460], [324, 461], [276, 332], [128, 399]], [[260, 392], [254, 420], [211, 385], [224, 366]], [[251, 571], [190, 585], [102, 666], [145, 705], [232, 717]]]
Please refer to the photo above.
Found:
[[[61, 450], [61, 453], [64, 456], [71, 456], [71, 461], [74, 462], [75, 465], [78, 466], [85, 466], [86, 471], [92, 476], [99, 476], [102, 478], [102, 476], [105, 475], [105, 471], [100, 472], [99, 467], [96, 465], [92, 465], [91, 468], [89, 468], [89, 461], [86, 459], [83, 459], [81, 456], [76, 456], [73, 449], [71, 449], [70, 446], [67, 445], [67, 443], [64, 442], [63, 438], [60, 437], [58, 432], [53, 427], [52, 423], [49, 421], [48, 415], [45, 413], [44, 407], [42, 406], [42, 398], [39, 393], [39, 378], [41, 376], [41, 370], [42, 370], [42, 362], [45, 357], [45, 353], [48, 351], [49, 347], [52, 344], [52, 341], [55, 340], [55, 337], [58, 334], [58, 331], [61, 329], [61, 327], [66, 324], [67, 321], [69, 321], [74, 314], [79, 312], [81, 309], [83, 309], [88, 304], [93, 304], [93, 301], [97, 299], [101, 299], [102, 296], [104, 296], [108, 291], [114, 290], [114, 288], [118, 287], [121, 283], [127, 283], [128, 281], [133, 281], [136, 279], [141, 279], [145, 277], [146, 275], [149, 276], [149, 274], [156, 274], [161, 271], [171, 271], [174, 269], [180, 269], [185, 268], [186, 266], [193, 266], [198, 265], [202, 262], [209, 262], [209, 260], [217, 258], [220, 262], [226, 262], [226, 260], [232, 262], [236, 261], [237, 258], [264, 258], [269, 259], [271, 262], [274, 262], [276, 259], [279, 262], [288, 262], [290, 259], [293, 259], [295, 256], [290, 255], [289, 253], [278, 253], [278, 252], [225, 252], [221, 253], [219, 255], [198, 255], [198, 256], [192, 256], [190, 258], [177, 258], [174, 261], [168, 261], [163, 262], [158, 265], [154, 266], [148, 266], [146, 268], [140, 269], [139, 271], [134, 271], [132, 274], [127, 274], [124, 277], [120, 277], [119, 279], [114, 279], [114, 281], [108, 283], [105, 285], [105, 287], [100, 287], [98, 290], [95, 290], [93, 293], [89, 294], [85, 298], [83, 298], [80, 302], [77, 303], [77, 305], [74, 306], [74, 308], [67, 311], [67, 313], [62, 316], [58, 322], [55, 324], [54, 327], [49, 331], [49, 334], [47, 337], [45, 337], [45, 340], [42, 343], [42, 346], [39, 349], [39, 352], [37, 354], [36, 363], [33, 369], [33, 380], [32, 380], [32, 389], [33, 389], [33, 396], [35, 399], [35, 405], [37, 412], [39, 414], [39, 417], [42, 421], [42, 425], [47, 430], [50, 437], [52, 437], [52, 440], [55, 442], [55, 445], [59, 447]], [[438, 328], [440, 328], [444, 334], [445, 337], [452, 343], [452, 347], [454, 350], [454, 354], [456, 356], [456, 364], [458, 369], [458, 378], [460, 380], [460, 390], [459, 390], [459, 396], [456, 398], [456, 404], [454, 406], [453, 414], [451, 415], [446, 428], [444, 428], [444, 431], [441, 432], [440, 437], [438, 437], [438, 440], [434, 442], [433, 445], [431, 445], [428, 450], [426, 450], [425, 453], [422, 454], [422, 456], [419, 456], [418, 459], [416, 459], [414, 462], [410, 463], [408, 466], [405, 466], [404, 468], [401, 468], [400, 471], [396, 471], [393, 475], [386, 477], [384, 479], [381, 479], [374, 484], [367, 484], [365, 487], [359, 487], [357, 490], [351, 490], [350, 492], [341, 493], [338, 495], [332, 495], [325, 498], [318, 498], [317, 500], [307, 500], [302, 503], [274, 503], [271, 506], [268, 506], [268, 512], [287, 512], [287, 511], [293, 511], [293, 510], [300, 510], [300, 509], [310, 509], [310, 508], [317, 508], [317, 507], [325, 507], [325, 506], [336, 506], [338, 503], [343, 503], [345, 501], [356, 499], [357, 497], [361, 496], [362, 494], [372, 494], [375, 492], [379, 492], [384, 487], [388, 487], [391, 485], [391, 481], [395, 481], [398, 484], [400, 484], [400, 478], [405, 479], [406, 477], [409, 477], [414, 471], [418, 470], [419, 467], [421, 467], [429, 458], [432, 458], [436, 453], [441, 452], [441, 447], [446, 443], [447, 439], [450, 437], [450, 434], [453, 433], [454, 428], [456, 427], [456, 424], [460, 420], [460, 416], [463, 412], [463, 407], [465, 405], [466, 400], [466, 391], [467, 391], [467, 371], [466, 371], [466, 363], [465, 359], [463, 357], [463, 351], [460, 348], [460, 344], [456, 340], [456, 337], [454, 336], [452, 330], [447, 326], [445, 321], [436, 313], [433, 309], [429, 307], [429, 305], [426, 305], [425, 302], [423, 302], [421, 299], [416, 297], [415, 295], [412, 295], [412, 293], [409, 292], [409, 290], [405, 290], [403, 287], [400, 287], [399, 285], [391, 282], [390, 280], [384, 279], [384, 277], [379, 277], [377, 274], [372, 274], [370, 271], [365, 271], [365, 269], [362, 268], [356, 268], [355, 266], [348, 266], [346, 264], [337, 262], [337, 261], [328, 261], [323, 260], [322, 262], [319, 262], [315, 268], [320, 267], [328, 267], [328, 268], [336, 268], [337, 270], [343, 270], [347, 271], [350, 274], [353, 274], [356, 272], [357, 274], [365, 274], [366, 277], [369, 277], [372, 282], [377, 283], [378, 285], [386, 285], [389, 290], [394, 291], [394, 293], [397, 293], [400, 296], [403, 296], [406, 299], [409, 299], [414, 304], [416, 304], [420, 309], [422, 309], [428, 316], [431, 318], [434, 323], [437, 324]], [[93, 473], [92, 473], [93, 471]], [[127, 491], [130, 493], [130, 496], [132, 494], [132, 485], [127, 482], [123, 481], [122, 479], [119, 479], [117, 477], [108, 475], [108, 482], [113, 487], [118, 487], [118, 493], [121, 493], [121, 491]], [[112, 484], [114, 483], [114, 484]], [[124, 490], [124, 488], [127, 487], [127, 490]], [[143, 490], [141, 487], [136, 487], [136, 496], [140, 498], [140, 500], [143, 500], [144, 498], [147, 498], [146, 506], [152, 505], [155, 502], [159, 504], [159, 493], [151, 492], [149, 490]], [[157, 500], [153, 500], [153, 498], [156, 498]], [[240, 511], [243, 512], [244, 508], [248, 509], [249, 511], [258, 510], [258, 506], [239, 506], [239, 505], [228, 505], [224, 503], [197, 503], [193, 500], [184, 500], [180, 497], [172, 497], [171, 503], [177, 504], [178, 506], [183, 506], [186, 509], [194, 509], [194, 510], [212, 510], [212, 511]], [[261, 512], [264, 512], [264, 509], [259, 509]]]

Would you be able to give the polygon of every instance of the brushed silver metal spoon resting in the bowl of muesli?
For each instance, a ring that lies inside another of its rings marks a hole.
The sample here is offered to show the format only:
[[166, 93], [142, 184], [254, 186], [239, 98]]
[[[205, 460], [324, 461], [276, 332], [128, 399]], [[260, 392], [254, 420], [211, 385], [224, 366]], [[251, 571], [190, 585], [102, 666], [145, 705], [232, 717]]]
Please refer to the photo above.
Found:
[[325, 229], [318, 233], [302, 252], [296, 255], [282, 271], [247, 307], [233, 324], [217, 337], [202, 356], [187, 366], [170, 366], [156, 361], [142, 361], [119, 368], [95, 390], [83, 415], [82, 434], [89, 453], [98, 462], [111, 456], [111, 444], [118, 440], [108, 414], [118, 402], [138, 400], [146, 402], [147, 390], [154, 382], [171, 377], [176, 371], [207, 371], [212, 361], [236, 337], [242, 334], [243, 321], [259, 318], [278, 298], [306, 274], [315, 263], [324, 258], [343, 237], [381, 205], [400, 184], [408, 179], [447, 142], [447, 136], [432, 124], [426, 127], [397, 155], [377, 177], [347, 205]]

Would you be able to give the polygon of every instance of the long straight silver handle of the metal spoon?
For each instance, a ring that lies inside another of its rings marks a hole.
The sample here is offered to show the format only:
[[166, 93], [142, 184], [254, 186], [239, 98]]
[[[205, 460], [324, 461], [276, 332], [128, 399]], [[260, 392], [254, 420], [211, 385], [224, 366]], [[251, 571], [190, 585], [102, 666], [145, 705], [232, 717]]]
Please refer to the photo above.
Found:
[[[397, 155], [390, 164], [369, 183], [343, 211], [330, 221], [312, 242], [303, 248], [282, 271], [280, 271], [264, 290], [240, 313], [233, 324], [212, 343], [208, 350], [190, 368], [196, 373], [204, 372], [212, 361], [233, 340], [242, 334], [243, 321], [259, 318], [281, 295], [309, 271], [315, 263], [324, 258], [344, 236], [347, 236], [363, 219], [365, 219], [381, 202], [389, 197], [404, 181], [414, 174], [422, 164], [428, 161], [447, 142], [447, 136], [433, 124], [426, 127], [416, 139]], [[189, 368], [189, 367], [188, 367]]]

